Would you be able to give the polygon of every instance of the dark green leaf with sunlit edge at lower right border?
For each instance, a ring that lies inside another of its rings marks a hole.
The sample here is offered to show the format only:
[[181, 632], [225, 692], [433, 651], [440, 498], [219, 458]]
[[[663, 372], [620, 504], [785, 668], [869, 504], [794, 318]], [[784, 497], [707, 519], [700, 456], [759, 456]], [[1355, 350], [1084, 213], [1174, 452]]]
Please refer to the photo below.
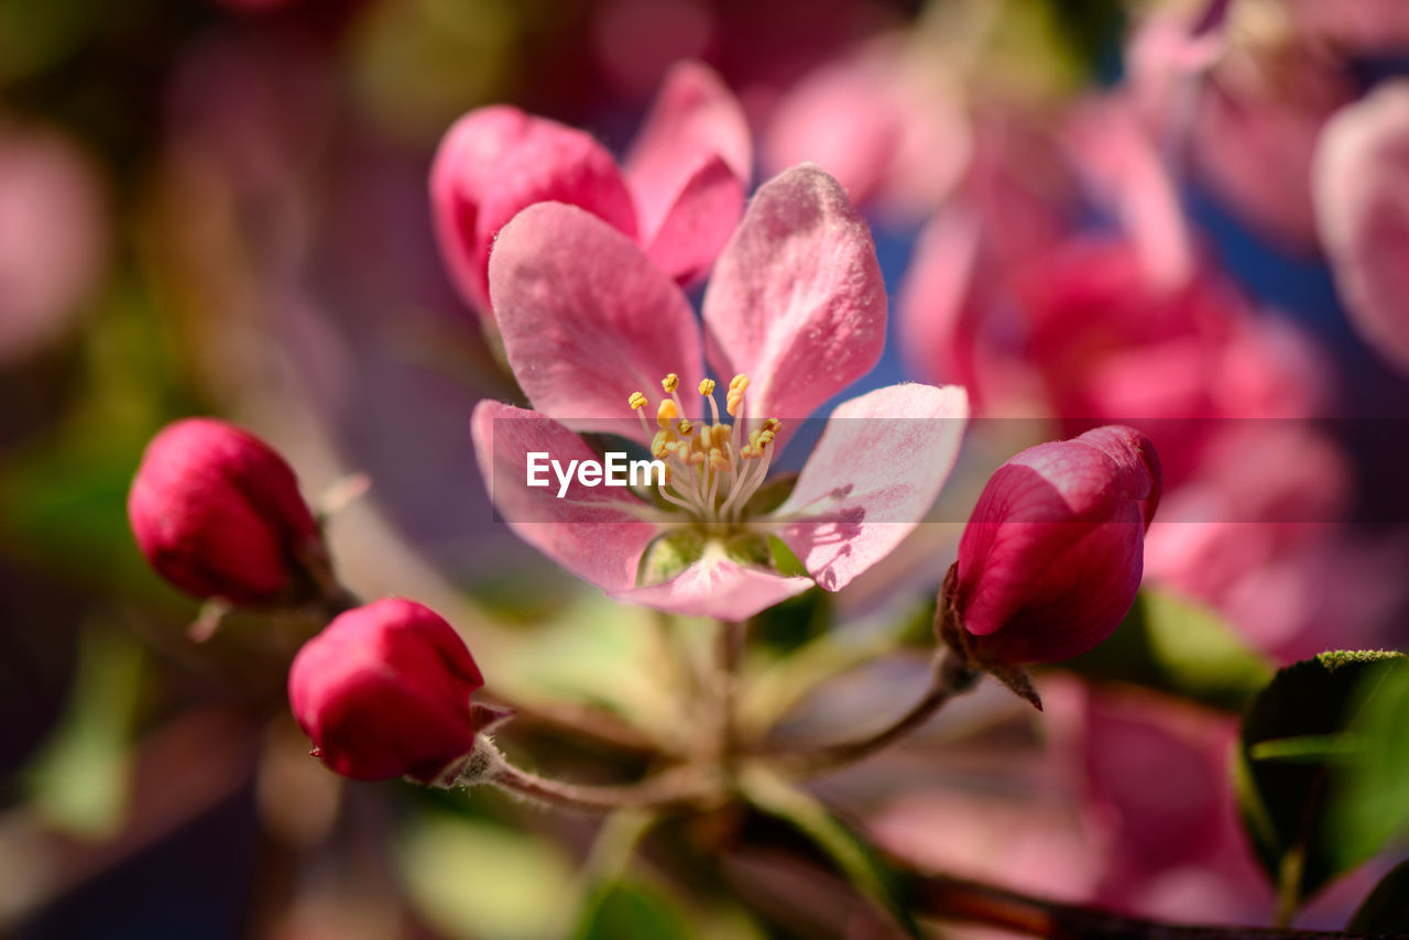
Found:
[[[1278, 885], [1284, 919], [1392, 831], [1392, 823], [1358, 819], [1341, 806], [1343, 793], [1360, 792], [1355, 778], [1381, 747], [1374, 734], [1389, 734], [1381, 729], [1388, 719], [1377, 717], [1382, 706], [1409, 702], [1386, 698], [1409, 693], [1406, 671], [1398, 653], [1323, 653], [1281, 669], [1243, 719], [1239, 805], [1257, 857]], [[1406, 799], [1385, 798], [1401, 806]]]

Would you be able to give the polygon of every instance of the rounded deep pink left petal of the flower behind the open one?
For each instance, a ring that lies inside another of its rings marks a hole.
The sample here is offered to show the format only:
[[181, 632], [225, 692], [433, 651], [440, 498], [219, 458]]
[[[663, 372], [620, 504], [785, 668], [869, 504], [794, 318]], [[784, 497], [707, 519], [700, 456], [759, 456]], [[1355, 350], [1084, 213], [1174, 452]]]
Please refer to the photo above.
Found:
[[635, 207], [612, 154], [588, 134], [496, 104], [459, 118], [431, 166], [431, 213], [441, 256], [483, 316], [495, 235], [541, 202], [582, 206], [634, 237]]

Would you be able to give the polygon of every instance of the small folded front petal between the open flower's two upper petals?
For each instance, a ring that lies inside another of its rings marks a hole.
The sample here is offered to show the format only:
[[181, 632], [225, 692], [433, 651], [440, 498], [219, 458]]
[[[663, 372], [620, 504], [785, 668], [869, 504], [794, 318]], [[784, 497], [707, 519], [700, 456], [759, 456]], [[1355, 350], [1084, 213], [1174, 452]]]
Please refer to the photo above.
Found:
[[743, 213], [744, 183], [712, 156], [685, 183], [645, 254], [681, 283], [703, 278]]

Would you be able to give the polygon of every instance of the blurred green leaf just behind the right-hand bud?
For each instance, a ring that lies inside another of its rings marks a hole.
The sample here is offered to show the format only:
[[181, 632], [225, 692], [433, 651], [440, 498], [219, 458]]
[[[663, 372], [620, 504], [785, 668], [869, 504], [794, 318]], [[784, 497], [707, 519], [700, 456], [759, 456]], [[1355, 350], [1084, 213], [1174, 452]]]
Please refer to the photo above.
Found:
[[1109, 640], [1064, 668], [1240, 712], [1272, 678], [1265, 657], [1217, 613], [1167, 590], [1143, 589]]

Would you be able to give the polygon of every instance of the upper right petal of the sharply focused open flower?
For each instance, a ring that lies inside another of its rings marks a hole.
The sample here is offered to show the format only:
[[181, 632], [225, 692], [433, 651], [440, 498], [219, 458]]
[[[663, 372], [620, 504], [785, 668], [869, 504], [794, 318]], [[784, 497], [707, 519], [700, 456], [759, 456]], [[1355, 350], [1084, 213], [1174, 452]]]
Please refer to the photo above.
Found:
[[885, 345], [885, 286], [865, 221], [810, 163], [764, 183], [704, 295], [709, 357], [748, 375], [750, 417], [782, 433], [871, 371]]

